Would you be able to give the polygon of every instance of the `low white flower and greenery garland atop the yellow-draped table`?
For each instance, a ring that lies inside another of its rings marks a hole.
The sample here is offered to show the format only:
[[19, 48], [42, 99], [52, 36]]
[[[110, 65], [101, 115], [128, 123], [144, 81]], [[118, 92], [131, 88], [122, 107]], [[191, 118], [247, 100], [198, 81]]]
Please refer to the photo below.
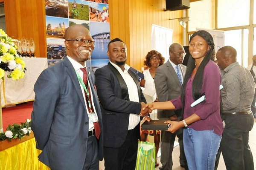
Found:
[[25, 135], [29, 136], [29, 133], [31, 133], [31, 121], [29, 119], [26, 120], [25, 123], [20, 123], [10, 125], [6, 128], [5, 133], [0, 133], [0, 141], [4, 141], [8, 139], [9, 141], [12, 141], [12, 139], [18, 138], [19, 140], [24, 138]]

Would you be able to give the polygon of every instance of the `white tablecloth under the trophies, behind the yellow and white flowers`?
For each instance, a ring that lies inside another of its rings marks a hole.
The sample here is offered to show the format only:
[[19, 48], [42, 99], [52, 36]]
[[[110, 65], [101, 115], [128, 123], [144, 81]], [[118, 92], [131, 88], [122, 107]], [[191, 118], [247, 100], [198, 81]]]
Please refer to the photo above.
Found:
[[7, 78], [8, 72], [6, 72], [4, 80], [1, 80], [2, 107], [35, 100], [34, 84], [41, 72], [47, 68], [47, 58], [23, 58], [23, 60], [27, 69], [24, 78], [15, 81]]

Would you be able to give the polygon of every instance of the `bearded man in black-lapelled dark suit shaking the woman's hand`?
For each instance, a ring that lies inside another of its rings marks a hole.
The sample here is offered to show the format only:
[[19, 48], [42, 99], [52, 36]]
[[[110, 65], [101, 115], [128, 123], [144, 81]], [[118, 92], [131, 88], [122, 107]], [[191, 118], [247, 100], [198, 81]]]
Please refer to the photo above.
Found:
[[140, 115], [148, 113], [148, 110], [142, 110], [146, 100], [136, 72], [125, 64], [125, 43], [119, 38], [111, 40], [107, 54], [110, 62], [95, 72], [105, 130], [105, 170], [134, 170], [140, 139]]

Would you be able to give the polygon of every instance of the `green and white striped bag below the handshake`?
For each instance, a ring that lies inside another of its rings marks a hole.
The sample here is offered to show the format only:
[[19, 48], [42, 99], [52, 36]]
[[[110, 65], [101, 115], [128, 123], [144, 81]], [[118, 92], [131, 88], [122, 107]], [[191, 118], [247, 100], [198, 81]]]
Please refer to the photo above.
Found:
[[154, 144], [139, 141], [136, 170], [154, 170], [156, 149]]

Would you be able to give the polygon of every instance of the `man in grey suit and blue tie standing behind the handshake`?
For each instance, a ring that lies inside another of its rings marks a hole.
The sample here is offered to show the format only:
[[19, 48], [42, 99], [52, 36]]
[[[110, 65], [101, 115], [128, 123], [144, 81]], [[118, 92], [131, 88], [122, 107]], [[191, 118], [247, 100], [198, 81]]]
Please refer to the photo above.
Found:
[[[173, 43], [169, 47], [169, 60], [157, 68], [154, 83], [157, 91], [158, 101], [169, 101], [180, 96], [181, 84], [186, 72], [186, 66], [182, 63], [185, 50], [179, 43]], [[172, 121], [182, 120], [182, 110], [157, 110], [158, 119], [170, 119]], [[172, 170], [172, 151], [175, 137], [179, 138], [180, 144], [180, 166], [187, 168], [186, 157], [183, 148], [183, 129], [175, 133], [161, 132], [161, 164], [160, 170]]]

